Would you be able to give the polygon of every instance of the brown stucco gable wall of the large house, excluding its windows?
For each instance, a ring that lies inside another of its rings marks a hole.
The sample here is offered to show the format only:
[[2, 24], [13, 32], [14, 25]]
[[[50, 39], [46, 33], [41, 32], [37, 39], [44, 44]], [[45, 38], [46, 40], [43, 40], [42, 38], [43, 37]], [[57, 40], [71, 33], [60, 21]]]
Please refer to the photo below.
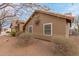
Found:
[[[37, 17], [39, 15], [39, 18]], [[36, 20], [40, 20], [38, 25], [35, 24]], [[36, 13], [25, 26], [25, 31], [28, 31], [28, 26], [33, 26], [33, 34], [43, 35], [43, 24], [52, 23], [52, 37], [53, 36], [69, 36], [69, 26], [66, 18], [47, 15], [44, 13]]]

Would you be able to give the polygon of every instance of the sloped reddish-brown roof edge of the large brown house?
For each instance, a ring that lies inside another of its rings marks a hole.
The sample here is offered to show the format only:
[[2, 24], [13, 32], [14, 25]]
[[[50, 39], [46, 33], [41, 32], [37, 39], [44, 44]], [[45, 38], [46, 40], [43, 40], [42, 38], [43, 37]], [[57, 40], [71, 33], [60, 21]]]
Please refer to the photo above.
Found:
[[55, 16], [55, 17], [59, 17], [59, 18], [65, 18], [65, 19], [68, 19], [68, 20], [70, 20], [70, 21], [74, 19], [73, 16], [67, 16], [67, 15], [58, 14], [58, 13], [51, 13], [51, 12], [48, 12], [48, 11], [36, 10], [35, 12], [33, 12], [33, 14], [30, 16], [30, 18], [26, 21], [24, 27], [26, 26], [26, 24], [31, 20], [31, 18], [32, 18], [36, 13], [43, 13], [43, 14], [47, 14], [47, 15], [50, 15], [50, 16]]

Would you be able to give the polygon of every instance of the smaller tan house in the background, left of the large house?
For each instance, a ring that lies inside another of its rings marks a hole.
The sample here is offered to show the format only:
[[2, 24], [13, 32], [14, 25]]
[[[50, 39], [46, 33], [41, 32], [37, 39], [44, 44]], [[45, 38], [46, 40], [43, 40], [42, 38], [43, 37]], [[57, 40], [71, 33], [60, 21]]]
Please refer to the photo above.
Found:
[[12, 23], [11, 23], [11, 31], [12, 30], [16, 30], [17, 32], [18, 31], [23, 31], [23, 26], [25, 24], [25, 21], [22, 21], [22, 20], [13, 20]]

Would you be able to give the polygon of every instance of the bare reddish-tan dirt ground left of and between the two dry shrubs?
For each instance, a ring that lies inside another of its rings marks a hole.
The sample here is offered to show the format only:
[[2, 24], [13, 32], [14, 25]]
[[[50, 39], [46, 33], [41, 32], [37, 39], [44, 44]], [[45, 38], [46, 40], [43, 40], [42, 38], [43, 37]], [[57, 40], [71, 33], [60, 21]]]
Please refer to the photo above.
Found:
[[32, 56], [50, 56], [53, 55], [51, 52], [51, 44], [49, 42], [41, 41], [38, 39], [34, 40], [32, 45], [15, 48], [16, 43], [15, 37], [0, 37], [0, 55], [32, 55]]

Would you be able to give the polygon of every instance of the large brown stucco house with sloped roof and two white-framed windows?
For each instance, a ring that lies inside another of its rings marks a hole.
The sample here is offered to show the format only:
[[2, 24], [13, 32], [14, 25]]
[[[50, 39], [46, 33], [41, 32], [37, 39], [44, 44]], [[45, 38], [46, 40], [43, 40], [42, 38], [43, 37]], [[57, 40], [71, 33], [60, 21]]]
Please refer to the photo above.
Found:
[[36, 10], [24, 25], [24, 31], [41, 36], [69, 37], [73, 16]]

